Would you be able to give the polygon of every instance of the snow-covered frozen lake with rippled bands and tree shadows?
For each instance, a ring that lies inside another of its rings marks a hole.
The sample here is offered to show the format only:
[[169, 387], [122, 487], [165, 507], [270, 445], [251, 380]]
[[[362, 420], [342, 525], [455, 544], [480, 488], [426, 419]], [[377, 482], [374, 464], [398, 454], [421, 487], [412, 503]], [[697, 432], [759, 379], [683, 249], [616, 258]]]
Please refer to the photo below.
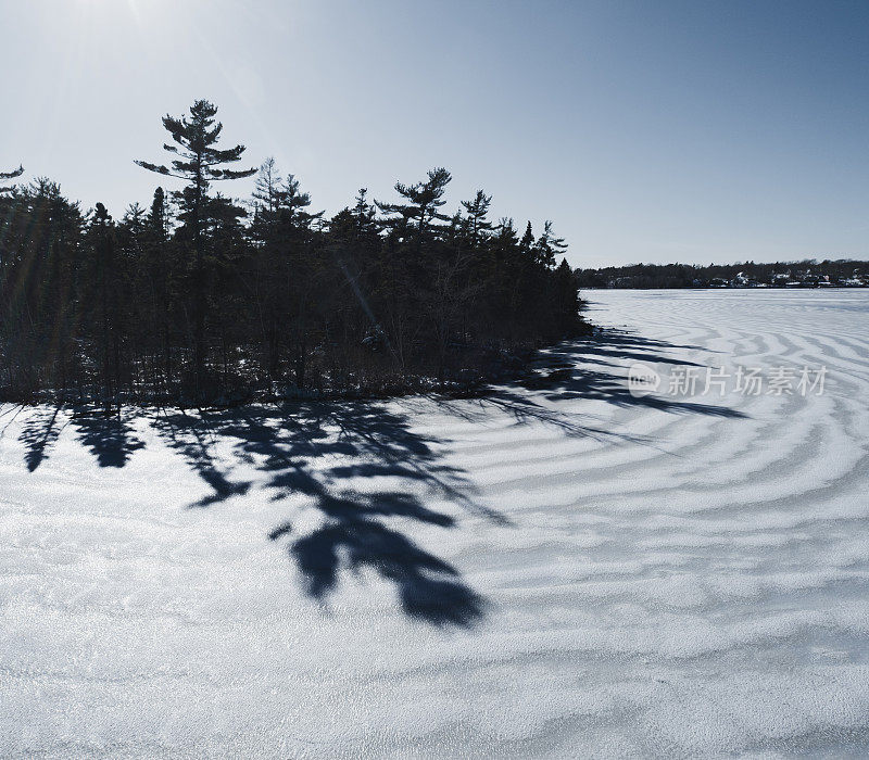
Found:
[[0, 755], [865, 753], [869, 291], [587, 297], [483, 401], [0, 407]]

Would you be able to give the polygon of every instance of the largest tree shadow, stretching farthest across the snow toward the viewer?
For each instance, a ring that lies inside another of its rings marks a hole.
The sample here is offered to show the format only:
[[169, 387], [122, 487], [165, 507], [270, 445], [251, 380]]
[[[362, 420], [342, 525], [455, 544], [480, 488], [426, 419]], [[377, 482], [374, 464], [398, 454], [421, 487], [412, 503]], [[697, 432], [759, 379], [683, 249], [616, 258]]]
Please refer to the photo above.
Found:
[[[453, 516], [423, 503], [419, 487], [498, 524], [508, 522], [476, 504], [466, 493], [463, 473], [439, 461], [439, 442], [414, 432], [395, 409], [366, 402], [299, 403], [197, 416], [164, 414], [153, 423], [214, 489], [194, 506], [216, 504], [250, 485], [232, 483], [228, 469], [218, 470], [212, 451], [218, 440], [239, 463], [267, 473], [264, 487], [274, 502], [307, 497], [319, 512], [319, 524], [295, 536], [292, 521], [286, 520], [268, 537], [288, 540], [288, 555], [312, 599], [327, 604], [343, 574], [368, 569], [395, 586], [402, 610], [412, 619], [471, 626], [484, 616], [484, 599], [458, 570], [412, 541], [402, 527], [456, 527]], [[380, 479], [388, 479], [390, 487], [377, 487]], [[363, 487], [351, 487], [351, 481]]]

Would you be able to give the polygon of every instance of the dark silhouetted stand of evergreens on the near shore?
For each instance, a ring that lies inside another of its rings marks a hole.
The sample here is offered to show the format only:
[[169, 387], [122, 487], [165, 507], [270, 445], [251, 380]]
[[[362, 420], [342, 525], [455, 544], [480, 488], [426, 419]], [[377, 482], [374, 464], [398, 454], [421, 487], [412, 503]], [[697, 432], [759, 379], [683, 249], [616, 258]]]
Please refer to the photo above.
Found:
[[[163, 118], [172, 161], [136, 163], [181, 187], [148, 207], [84, 212], [43, 178], [0, 192], [2, 396], [391, 393], [473, 382], [583, 329], [550, 223], [493, 223], [482, 191], [445, 213], [443, 168], [326, 218], [273, 160], [231, 168], [244, 147], [218, 148], [216, 111]], [[214, 191], [253, 174], [244, 202]]]

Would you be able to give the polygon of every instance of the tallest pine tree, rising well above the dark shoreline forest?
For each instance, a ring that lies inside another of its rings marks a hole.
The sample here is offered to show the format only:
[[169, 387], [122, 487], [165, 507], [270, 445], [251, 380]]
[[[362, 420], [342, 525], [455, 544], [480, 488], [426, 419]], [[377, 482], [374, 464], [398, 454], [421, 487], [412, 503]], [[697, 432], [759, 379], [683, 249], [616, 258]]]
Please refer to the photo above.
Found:
[[152, 164], [148, 161], [136, 163], [149, 172], [177, 177], [187, 182], [187, 187], [176, 193], [184, 210], [184, 219], [191, 228], [196, 263], [193, 268], [194, 292], [194, 341], [193, 341], [193, 369], [197, 395], [203, 392], [205, 373], [205, 317], [207, 308], [206, 281], [205, 281], [205, 241], [203, 227], [205, 223], [207, 192], [212, 181], [227, 179], [241, 179], [256, 173], [255, 168], [240, 172], [223, 168], [241, 160], [244, 145], [239, 144], [229, 149], [217, 149], [215, 145], [221, 137], [223, 124], [215, 123], [217, 106], [206, 100], [197, 100], [190, 107], [190, 116], [178, 118], [163, 117], [163, 126], [172, 135], [176, 145], [164, 144], [163, 148], [180, 156], [172, 161], [172, 168], [164, 165]]

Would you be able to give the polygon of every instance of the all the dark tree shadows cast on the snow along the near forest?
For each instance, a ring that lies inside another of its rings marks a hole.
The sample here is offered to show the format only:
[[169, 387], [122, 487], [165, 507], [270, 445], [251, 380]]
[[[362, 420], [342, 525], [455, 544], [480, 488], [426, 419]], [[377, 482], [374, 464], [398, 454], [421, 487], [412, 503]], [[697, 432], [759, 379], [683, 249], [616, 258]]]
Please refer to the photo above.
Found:
[[[648, 436], [614, 431], [589, 415], [565, 414], [546, 402], [574, 397], [602, 400], [624, 407], [739, 418], [738, 410], [708, 404], [633, 396], [624, 375], [626, 363], [701, 367], [668, 355], [681, 346], [608, 331], [543, 352], [527, 377], [489, 387], [474, 398], [405, 398], [391, 403], [333, 401], [253, 405], [198, 414], [161, 410], [152, 428], [207, 484], [209, 493], [190, 507], [214, 507], [249, 493], [253, 480], [237, 470], [262, 473], [275, 504], [316, 510], [316, 524], [290, 515], [268, 539], [286, 545], [304, 593], [328, 605], [345, 577], [374, 572], [395, 588], [404, 613], [438, 626], [473, 626], [486, 615], [487, 600], [444, 558], [412, 540], [414, 527], [455, 530], [452, 514], [432, 509], [429, 498], [496, 525], [512, 524], [473, 496], [466, 473], [443, 460], [446, 441], [414, 430], [415, 404], [432, 401], [439, 409], [468, 421], [484, 421], [491, 409], [509, 414], [517, 425], [540, 422], [565, 435], [657, 447]], [[610, 369], [612, 368], [612, 369]], [[430, 406], [428, 407], [430, 409]], [[58, 409], [28, 420], [21, 434], [25, 460], [34, 471], [59, 435]], [[71, 423], [101, 467], [123, 467], [143, 447], [130, 417], [74, 410]], [[300, 498], [301, 497], [301, 498]]]

